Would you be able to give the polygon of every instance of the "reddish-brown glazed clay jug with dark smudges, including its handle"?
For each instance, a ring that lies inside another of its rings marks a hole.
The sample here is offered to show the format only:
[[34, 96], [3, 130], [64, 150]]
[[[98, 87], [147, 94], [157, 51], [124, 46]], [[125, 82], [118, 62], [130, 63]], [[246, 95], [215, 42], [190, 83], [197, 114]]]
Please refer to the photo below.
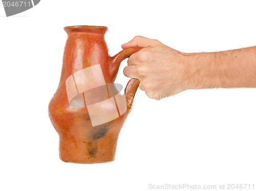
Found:
[[49, 116], [59, 134], [62, 161], [100, 163], [115, 159], [117, 139], [131, 111], [139, 80], [131, 79], [124, 95], [114, 81], [120, 62], [141, 47], [109, 56], [106, 27], [65, 27], [60, 82], [49, 103]]

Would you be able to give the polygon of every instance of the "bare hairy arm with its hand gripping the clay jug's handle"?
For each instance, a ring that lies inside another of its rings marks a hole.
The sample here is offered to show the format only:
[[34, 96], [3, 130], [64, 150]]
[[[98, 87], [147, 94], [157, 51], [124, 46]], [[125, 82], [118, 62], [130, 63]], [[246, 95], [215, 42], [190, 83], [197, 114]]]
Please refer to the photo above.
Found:
[[123, 49], [142, 46], [124, 68], [148, 97], [160, 100], [187, 89], [256, 87], [256, 46], [216, 53], [182, 53], [136, 36]]

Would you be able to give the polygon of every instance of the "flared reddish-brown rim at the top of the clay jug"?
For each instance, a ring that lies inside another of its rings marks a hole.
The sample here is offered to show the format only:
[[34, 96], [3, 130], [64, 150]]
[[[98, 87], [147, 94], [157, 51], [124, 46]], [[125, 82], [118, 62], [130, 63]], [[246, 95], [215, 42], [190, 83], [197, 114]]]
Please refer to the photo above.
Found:
[[108, 27], [80, 25], [80, 26], [69, 26], [69, 27], [65, 27], [64, 30], [65, 30], [68, 34], [71, 33], [71, 32], [83, 32], [83, 33], [105, 34], [105, 32], [108, 31]]

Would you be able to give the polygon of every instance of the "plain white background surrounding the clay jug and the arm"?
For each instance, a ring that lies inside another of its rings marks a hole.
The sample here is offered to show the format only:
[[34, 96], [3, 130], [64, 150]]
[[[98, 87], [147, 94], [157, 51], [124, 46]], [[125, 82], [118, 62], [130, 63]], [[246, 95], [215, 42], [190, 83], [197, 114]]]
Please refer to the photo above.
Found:
[[[136, 35], [182, 52], [256, 45], [255, 1], [49, 1], [5, 17], [0, 7], [0, 190], [150, 190], [148, 184], [255, 184], [256, 89], [187, 90], [161, 101], [137, 91], [116, 159], [58, 158], [48, 103], [65, 26], [106, 26], [110, 55]], [[117, 83], [129, 80], [122, 74]]]

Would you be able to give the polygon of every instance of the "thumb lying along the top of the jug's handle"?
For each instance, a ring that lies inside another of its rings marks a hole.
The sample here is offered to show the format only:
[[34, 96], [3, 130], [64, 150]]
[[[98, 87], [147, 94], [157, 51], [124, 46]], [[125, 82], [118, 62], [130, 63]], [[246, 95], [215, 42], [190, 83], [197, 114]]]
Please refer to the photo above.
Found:
[[158, 40], [155, 39], [150, 39], [150, 38], [146, 38], [143, 36], [136, 36], [134, 37], [131, 41], [122, 44], [122, 49], [127, 49], [129, 47], [133, 47], [133, 46], [140, 46], [140, 47], [150, 47], [150, 46], [156, 46], [157, 44], [159, 44], [161, 42], [159, 42]]

